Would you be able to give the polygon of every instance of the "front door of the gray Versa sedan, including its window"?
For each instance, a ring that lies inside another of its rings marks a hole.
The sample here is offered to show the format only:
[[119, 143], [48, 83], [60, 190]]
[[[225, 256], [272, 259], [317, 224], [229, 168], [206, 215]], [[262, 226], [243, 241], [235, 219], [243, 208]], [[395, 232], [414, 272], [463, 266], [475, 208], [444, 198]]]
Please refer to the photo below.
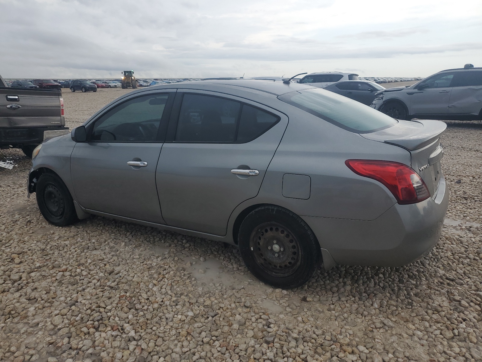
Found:
[[156, 166], [175, 91], [122, 99], [87, 127], [70, 159], [74, 193], [85, 208], [164, 223]]

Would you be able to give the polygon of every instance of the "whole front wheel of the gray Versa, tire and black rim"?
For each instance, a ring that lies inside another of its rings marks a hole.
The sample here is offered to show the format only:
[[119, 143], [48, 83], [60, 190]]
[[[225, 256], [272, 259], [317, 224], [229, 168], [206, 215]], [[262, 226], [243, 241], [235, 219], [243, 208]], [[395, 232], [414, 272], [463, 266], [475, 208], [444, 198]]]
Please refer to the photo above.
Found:
[[57, 175], [42, 174], [37, 181], [35, 194], [40, 213], [49, 223], [67, 226], [79, 220], [72, 196]]

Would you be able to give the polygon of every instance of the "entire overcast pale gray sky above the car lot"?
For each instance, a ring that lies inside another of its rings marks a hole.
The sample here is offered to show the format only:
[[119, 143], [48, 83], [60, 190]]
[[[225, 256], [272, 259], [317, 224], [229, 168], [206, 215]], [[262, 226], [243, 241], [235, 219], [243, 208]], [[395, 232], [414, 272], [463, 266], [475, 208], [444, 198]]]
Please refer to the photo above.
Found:
[[0, 0], [5, 78], [428, 76], [482, 66], [481, 0]]

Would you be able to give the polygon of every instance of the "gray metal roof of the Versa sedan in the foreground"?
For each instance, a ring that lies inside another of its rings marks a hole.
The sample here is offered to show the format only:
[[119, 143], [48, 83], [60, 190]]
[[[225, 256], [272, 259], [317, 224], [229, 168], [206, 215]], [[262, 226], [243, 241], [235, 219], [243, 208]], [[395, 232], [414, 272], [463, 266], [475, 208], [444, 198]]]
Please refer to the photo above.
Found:
[[[179, 82], [172, 84], [162, 84], [157, 85], [155, 89], [163, 88], [185, 88], [185, 89], [199, 89], [199, 90], [211, 90], [214, 92], [229, 93], [224, 92], [233, 87], [247, 88], [252, 90], [257, 90], [260, 92], [269, 93], [275, 96], [281, 96], [282, 94], [294, 92], [302, 89], [312, 89], [310, 85], [298, 84], [290, 82], [290, 84], [284, 84], [280, 81], [271, 81], [264, 79], [210, 79], [202, 80], [196, 82]], [[246, 89], [246, 90], [247, 90]]]

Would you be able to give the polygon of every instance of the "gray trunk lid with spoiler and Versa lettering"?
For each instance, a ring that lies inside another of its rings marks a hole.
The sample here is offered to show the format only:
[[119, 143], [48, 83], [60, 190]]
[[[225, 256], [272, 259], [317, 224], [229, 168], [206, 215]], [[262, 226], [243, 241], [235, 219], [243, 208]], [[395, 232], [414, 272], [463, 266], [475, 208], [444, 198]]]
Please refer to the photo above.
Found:
[[435, 120], [399, 120], [397, 125], [373, 133], [361, 134], [366, 139], [390, 143], [408, 150], [411, 154], [410, 165], [423, 179], [431, 196], [437, 192], [442, 171], [440, 162], [443, 148], [440, 136], [447, 128]]

